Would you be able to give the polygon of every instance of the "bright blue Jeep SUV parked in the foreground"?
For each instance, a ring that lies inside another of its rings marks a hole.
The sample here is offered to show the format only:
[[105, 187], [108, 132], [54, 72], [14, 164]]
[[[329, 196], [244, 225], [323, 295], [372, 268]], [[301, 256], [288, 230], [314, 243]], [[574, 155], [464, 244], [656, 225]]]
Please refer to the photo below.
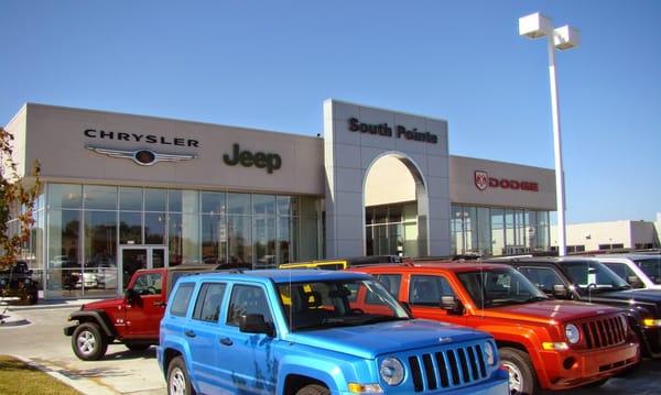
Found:
[[412, 319], [360, 273], [183, 277], [158, 360], [169, 394], [508, 394], [491, 336]]

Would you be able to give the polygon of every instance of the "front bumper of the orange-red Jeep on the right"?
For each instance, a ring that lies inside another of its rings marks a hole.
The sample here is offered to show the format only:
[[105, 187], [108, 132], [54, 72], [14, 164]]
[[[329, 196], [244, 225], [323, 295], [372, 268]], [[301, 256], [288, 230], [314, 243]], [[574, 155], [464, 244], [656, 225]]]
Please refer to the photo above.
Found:
[[[640, 361], [637, 342], [581, 352], [542, 352], [548, 389], [567, 389], [610, 377]], [[568, 369], [567, 369], [568, 367]]]

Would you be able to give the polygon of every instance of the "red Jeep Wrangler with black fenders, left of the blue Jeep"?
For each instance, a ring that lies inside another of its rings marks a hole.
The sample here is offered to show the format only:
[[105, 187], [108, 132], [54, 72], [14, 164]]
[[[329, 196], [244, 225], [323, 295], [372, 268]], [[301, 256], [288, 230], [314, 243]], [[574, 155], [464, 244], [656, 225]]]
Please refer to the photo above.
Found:
[[216, 265], [180, 265], [137, 271], [123, 298], [94, 301], [72, 312], [64, 328], [72, 348], [82, 360], [95, 361], [106, 354], [108, 344], [123, 343], [129, 350], [145, 350], [159, 343], [159, 323], [176, 279], [184, 275], [216, 270]]

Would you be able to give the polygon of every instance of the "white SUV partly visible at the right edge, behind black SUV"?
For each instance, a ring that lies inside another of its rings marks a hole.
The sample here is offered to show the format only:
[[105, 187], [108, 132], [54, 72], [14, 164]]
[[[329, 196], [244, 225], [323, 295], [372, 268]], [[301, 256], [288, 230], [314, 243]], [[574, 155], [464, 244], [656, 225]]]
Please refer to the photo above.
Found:
[[599, 262], [617, 273], [633, 288], [661, 289], [661, 255], [596, 255]]

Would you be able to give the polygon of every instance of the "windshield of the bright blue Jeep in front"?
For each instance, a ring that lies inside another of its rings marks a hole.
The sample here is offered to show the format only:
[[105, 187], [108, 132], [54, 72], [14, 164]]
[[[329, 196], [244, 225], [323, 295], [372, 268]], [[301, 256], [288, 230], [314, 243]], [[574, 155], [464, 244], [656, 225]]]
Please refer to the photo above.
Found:
[[372, 279], [283, 283], [280, 301], [291, 331], [407, 320], [407, 310]]

